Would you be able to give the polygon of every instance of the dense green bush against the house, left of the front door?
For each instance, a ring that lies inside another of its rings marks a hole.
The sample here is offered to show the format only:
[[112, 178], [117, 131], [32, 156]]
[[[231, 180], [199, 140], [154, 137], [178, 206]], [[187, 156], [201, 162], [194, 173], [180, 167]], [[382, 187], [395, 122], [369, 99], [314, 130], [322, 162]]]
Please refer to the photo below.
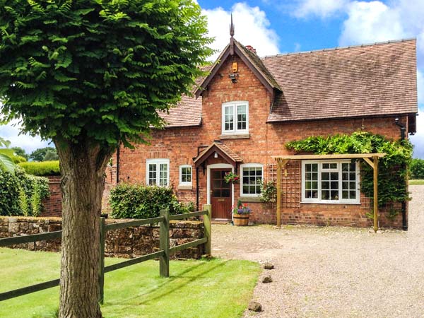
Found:
[[110, 192], [112, 218], [155, 218], [169, 208], [170, 214], [194, 210], [192, 202], [180, 204], [170, 188], [120, 183]]

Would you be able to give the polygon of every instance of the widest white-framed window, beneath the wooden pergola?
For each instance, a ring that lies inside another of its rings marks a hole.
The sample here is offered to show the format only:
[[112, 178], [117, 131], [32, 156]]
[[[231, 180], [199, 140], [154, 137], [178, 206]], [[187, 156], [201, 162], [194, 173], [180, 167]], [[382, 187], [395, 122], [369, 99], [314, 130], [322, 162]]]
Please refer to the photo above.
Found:
[[359, 196], [356, 161], [302, 161], [302, 202], [359, 204]]

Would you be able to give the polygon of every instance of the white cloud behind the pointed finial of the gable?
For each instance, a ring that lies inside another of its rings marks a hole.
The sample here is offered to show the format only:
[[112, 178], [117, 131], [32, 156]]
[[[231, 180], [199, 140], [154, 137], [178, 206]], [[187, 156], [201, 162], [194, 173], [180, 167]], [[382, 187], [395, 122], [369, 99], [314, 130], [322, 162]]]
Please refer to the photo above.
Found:
[[[230, 42], [230, 13], [235, 25], [235, 39], [243, 45], [252, 45], [259, 56], [278, 54], [278, 35], [270, 28], [269, 20], [258, 6], [237, 3], [231, 11], [223, 8], [204, 9], [202, 13], [208, 17], [208, 35], [215, 37], [211, 45], [213, 49], [222, 51]], [[211, 59], [215, 60], [219, 53]]]

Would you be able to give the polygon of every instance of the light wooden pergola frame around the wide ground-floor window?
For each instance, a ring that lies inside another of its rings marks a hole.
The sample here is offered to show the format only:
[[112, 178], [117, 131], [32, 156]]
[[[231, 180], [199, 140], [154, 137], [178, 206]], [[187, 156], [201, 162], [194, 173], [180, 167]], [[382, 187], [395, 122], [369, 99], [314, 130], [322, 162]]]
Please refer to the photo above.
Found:
[[281, 170], [290, 160], [363, 159], [374, 170], [374, 230], [378, 230], [378, 158], [385, 153], [352, 153], [332, 155], [273, 155], [277, 161], [277, 226], [281, 227]]

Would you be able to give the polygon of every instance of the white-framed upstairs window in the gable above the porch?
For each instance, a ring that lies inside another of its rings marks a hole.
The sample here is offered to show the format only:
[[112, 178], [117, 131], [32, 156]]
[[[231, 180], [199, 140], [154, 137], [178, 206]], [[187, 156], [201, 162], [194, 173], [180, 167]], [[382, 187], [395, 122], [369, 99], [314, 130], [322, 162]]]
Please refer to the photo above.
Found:
[[224, 102], [222, 114], [223, 134], [249, 133], [249, 102]]

